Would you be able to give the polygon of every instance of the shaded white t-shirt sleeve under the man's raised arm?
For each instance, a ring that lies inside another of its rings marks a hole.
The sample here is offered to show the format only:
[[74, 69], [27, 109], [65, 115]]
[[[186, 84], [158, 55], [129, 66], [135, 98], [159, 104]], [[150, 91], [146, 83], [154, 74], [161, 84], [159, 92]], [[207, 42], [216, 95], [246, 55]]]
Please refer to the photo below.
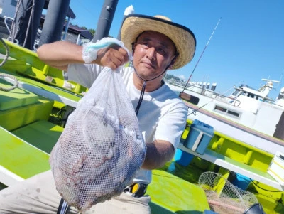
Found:
[[102, 68], [102, 66], [95, 64], [70, 64], [67, 69], [67, 77], [68, 80], [89, 88], [97, 79]]

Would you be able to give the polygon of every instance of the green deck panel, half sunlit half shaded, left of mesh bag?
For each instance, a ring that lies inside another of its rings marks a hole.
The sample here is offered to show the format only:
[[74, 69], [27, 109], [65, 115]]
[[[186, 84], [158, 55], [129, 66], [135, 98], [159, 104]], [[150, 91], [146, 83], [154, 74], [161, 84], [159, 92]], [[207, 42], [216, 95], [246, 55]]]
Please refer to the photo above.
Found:
[[24, 179], [50, 169], [49, 154], [62, 127], [38, 121], [13, 132], [0, 128], [1, 166]]

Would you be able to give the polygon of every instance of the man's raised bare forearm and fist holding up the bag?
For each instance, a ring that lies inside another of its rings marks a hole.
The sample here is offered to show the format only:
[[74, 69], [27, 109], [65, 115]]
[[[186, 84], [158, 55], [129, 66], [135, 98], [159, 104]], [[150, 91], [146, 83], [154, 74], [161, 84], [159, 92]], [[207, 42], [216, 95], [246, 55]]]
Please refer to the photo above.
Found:
[[[37, 50], [38, 58], [44, 63], [67, 70], [67, 66], [72, 63], [84, 63], [82, 58], [82, 46], [67, 41], [56, 41], [54, 43], [43, 44]], [[115, 70], [126, 63], [128, 55], [124, 48], [114, 45], [102, 48], [97, 53], [97, 59], [92, 63], [107, 66]]]

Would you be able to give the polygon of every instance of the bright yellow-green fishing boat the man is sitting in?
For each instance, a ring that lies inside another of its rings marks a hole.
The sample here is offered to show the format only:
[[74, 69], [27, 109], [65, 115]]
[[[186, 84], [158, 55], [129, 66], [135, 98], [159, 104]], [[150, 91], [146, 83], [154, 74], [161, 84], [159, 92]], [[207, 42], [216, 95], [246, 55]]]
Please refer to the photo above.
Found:
[[[0, 53], [3, 58], [0, 67], [1, 189], [50, 169], [50, 151], [87, 88], [65, 80], [62, 70], [45, 65], [34, 51], [16, 43], [5, 40]], [[199, 95], [202, 100], [203, 92]], [[197, 97], [192, 91], [181, 97], [193, 113], [187, 119], [175, 157], [162, 168], [153, 170], [153, 181], [147, 189], [152, 198], [152, 213], [209, 213], [214, 210], [216, 213], [249, 214], [249, 210], [259, 205], [265, 213], [284, 213], [283, 185], [268, 173], [275, 160], [273, 151], [282, 151], [282, 141], [262, 132], [249, 133], [259, 139], [274, 139], [272, 143], [276, 147], [270, 151], [258, 148], [248, 139], [238, 139], [231, 135], [233, 131], [226, 133], [228, 125], [219, 127], [209, 117], [201, 117], [209, 112], [202, 107], [208, 100], [197, 105], [196, 98], [192, 97]], [[235, 103], [228, 106], [237, 108]], [[233, 119], [222, 117], [222, 123], [244, 128]], [[200, 126], [203, 132], [198, 129]], [[246, 129], [243, 131], [247, 132]], [[199, 139], [200, 133], [207, 136], [206, 141]], [[195, 134], [197, 137], [192, 140]], [[202, 145], [202, 151], [196, 142]], [[239, 176], [249, 178], [246, 186], [240, 185]], [[204, 185], [201, 178], [212, 178], [217, 183]], [[222, 193], [228, 188], [230, 193], [237, 193], [236, 196], [224, 196]], [[216, 193], [214, 200], [208, 198], [210, 191]], [[220, 198], [221, 202], [217, 202]], [[222, 203], [225, 199], [230, 202]], [[243, 210], [238, 210], [244, 202]]]

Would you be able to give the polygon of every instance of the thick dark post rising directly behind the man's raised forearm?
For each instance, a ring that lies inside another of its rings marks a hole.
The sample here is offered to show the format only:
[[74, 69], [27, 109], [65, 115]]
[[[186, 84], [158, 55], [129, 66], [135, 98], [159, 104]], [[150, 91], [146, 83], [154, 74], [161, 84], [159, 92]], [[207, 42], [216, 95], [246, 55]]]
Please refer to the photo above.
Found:
[[45, 22], [43, 23], [43, 31], [40, 35], [39, 46], [61, 39], [69, 4], [70, 0], [49, 1], [48, 11], [45, 16]]

